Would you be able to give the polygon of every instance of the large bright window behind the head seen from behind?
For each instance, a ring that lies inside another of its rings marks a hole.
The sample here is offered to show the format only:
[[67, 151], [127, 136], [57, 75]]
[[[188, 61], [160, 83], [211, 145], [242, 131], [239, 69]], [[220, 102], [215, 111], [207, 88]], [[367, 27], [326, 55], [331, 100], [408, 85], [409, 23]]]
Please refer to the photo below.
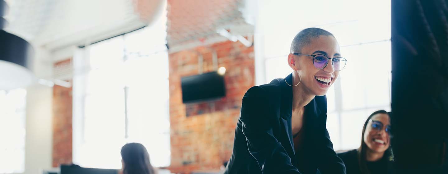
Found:
[[166, 16], [161, 16], [151, 26], [80, 49], [75, 56], [75, 164], [121, 168], [121, 146], [138, 142], [153, 166], [169, 166], [168, 53]]

